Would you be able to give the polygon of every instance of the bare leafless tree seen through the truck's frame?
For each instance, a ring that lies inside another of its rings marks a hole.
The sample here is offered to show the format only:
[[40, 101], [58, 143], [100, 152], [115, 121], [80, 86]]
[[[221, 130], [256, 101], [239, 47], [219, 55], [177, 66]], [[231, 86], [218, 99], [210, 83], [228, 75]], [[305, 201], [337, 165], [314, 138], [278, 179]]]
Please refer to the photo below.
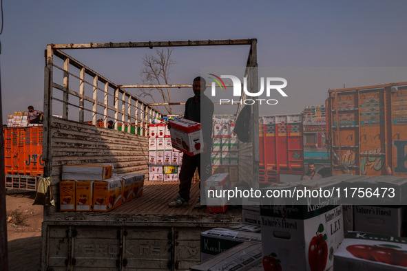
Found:
[[[143, 57], [144, 67], [141, 69], [140, 76], [143, 83], [149, 85], [169, 85], [169, 73], [171, 72], [171, 66], [176, 64], [171, 60], [172, 50], [161, 49], [156, 50], [156, 56], [145, 55]], [[157, 89], [140, 89], [140, 97], [149, 96], [152, 98], [154, 103], [157, 96], [154, 95], [160, 93], [163, 103], [171, 102], [171, 94], [169, 93], [169, 88], [157, 88]], [[165, 105], [165, 109], [169, 114], [172, 114], [172, 106]]]

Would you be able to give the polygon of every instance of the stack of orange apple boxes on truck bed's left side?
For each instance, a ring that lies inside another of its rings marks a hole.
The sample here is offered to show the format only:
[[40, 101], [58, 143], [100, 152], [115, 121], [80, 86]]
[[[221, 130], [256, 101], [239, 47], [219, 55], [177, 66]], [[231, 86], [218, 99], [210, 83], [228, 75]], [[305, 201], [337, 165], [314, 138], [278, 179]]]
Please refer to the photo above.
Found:
[[113, 175], [112, 164], [67, 164], [61, 180], [61, 211], [107, 212], [143, 195], [144, 175]]

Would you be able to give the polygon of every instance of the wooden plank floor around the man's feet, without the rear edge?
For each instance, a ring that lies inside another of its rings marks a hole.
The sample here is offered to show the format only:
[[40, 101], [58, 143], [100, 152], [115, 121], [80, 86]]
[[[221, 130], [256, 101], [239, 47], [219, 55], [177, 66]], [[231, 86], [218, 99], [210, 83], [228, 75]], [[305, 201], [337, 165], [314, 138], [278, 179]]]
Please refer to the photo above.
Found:
[[[187, 207], [169, 208], [168, 203], [178, 197], [179, 182], [152, 182], [144, 183], [143, 195], [126, 202], [122, 206], [109, 211], [114, 214], [136, 214], [136, 215], [212, 215], [207, 213], [206, 208], [194, 209], [200, 195], [199, 183], [191, 185], [191, 199]], [[240, 206], [229, 206], [225, 215], [241, 216]]]

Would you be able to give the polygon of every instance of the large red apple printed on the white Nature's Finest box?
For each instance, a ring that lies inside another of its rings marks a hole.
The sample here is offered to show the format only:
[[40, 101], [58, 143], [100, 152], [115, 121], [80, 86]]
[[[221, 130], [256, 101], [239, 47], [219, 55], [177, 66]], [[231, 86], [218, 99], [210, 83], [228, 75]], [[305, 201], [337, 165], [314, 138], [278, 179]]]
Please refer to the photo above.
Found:
[[328, 246], [325, 241], [327, 237], [320, 232], [324, 232], [322, 224], [318, 226], [316, 236], [309, 243], [308, 261], [311, 271], [324, 271], [328, 259]]

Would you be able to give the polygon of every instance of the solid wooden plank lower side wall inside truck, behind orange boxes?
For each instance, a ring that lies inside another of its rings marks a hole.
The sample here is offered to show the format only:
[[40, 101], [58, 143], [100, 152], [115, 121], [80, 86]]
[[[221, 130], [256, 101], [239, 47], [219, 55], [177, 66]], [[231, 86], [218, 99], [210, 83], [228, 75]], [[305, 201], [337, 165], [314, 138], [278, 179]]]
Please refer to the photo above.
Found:
[[[51, 177], [54, 197], [59, 197], [63, 164], [111, 163], [115, 173], [138, 172], [148, 177], [147, 140], [140, 135], [53, 118]], [[56, 212], [55, 208], [50, 211]]]

